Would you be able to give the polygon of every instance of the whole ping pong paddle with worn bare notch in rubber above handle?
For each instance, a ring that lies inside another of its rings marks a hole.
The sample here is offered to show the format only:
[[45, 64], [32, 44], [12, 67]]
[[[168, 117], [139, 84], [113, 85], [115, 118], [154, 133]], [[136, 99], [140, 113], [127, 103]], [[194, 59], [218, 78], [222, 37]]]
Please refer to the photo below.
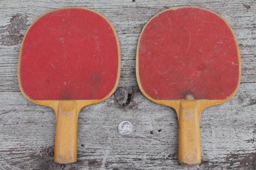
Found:
[[148, 99], [177, 113], [179, 163], [200, 164], [201, 111], [229, 100], [240, 83], [239, 47], [231, 27], [199, 7], [158, 13], [140, 34], [136, 76]]

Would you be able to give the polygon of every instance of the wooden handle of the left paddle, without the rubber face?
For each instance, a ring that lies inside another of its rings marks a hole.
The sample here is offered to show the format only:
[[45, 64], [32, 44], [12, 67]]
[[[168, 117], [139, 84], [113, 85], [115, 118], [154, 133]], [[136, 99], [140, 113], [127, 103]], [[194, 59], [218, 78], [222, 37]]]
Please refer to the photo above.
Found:
[[77, 123], [76, 101], [59, 101], [56, 114], [54, 162], [59, 164], [77, 162]]

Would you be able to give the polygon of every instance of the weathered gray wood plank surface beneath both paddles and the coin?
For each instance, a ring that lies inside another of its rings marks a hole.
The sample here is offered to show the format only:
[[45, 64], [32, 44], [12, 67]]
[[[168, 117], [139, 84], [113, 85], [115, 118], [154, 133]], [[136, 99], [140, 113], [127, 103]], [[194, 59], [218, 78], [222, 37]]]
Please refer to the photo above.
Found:
[[[135, 78], [139, 34], [156, 13], [194, 5], [217, 12], [233, 28], [241, 52], [242, 81], [228, 102], [201, 115], [203, 162], [177, 162], [177, 118], [173, 109], [147, 100]], [[83, 6], [105, 15], [121, 44], [122, 73], [115, 95], [85, 107], [79, 116], [78, 162], [53, 162], [55, 115], [19, 91], [20, 42], [44, 12]], [[134, 126], [121, 136], [118, 124]], [[256, 0], [0, 0], [0, 170], [256, 170]]]

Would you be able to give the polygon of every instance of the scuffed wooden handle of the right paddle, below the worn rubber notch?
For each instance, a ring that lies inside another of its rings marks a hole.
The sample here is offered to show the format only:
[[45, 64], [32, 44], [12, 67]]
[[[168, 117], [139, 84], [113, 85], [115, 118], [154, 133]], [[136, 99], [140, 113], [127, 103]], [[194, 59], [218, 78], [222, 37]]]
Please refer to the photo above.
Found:
[[183, 166], [201, 163], [200, 112], [196, 101], [181, 101], [178, 130], [178, 162]]

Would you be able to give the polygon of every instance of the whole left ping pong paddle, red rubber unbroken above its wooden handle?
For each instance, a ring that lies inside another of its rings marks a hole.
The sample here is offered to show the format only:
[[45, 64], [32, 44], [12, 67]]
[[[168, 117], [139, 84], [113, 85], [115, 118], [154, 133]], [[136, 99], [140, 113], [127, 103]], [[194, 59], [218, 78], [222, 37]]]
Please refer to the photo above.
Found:
[[68, 7], [33, 22], [20, 48], [19, 87], [28, 100], [55, 111], [55, 162], [77, 161], [79, 112], [110, 97], [119, 77], [118, 37], [103, 15]]

